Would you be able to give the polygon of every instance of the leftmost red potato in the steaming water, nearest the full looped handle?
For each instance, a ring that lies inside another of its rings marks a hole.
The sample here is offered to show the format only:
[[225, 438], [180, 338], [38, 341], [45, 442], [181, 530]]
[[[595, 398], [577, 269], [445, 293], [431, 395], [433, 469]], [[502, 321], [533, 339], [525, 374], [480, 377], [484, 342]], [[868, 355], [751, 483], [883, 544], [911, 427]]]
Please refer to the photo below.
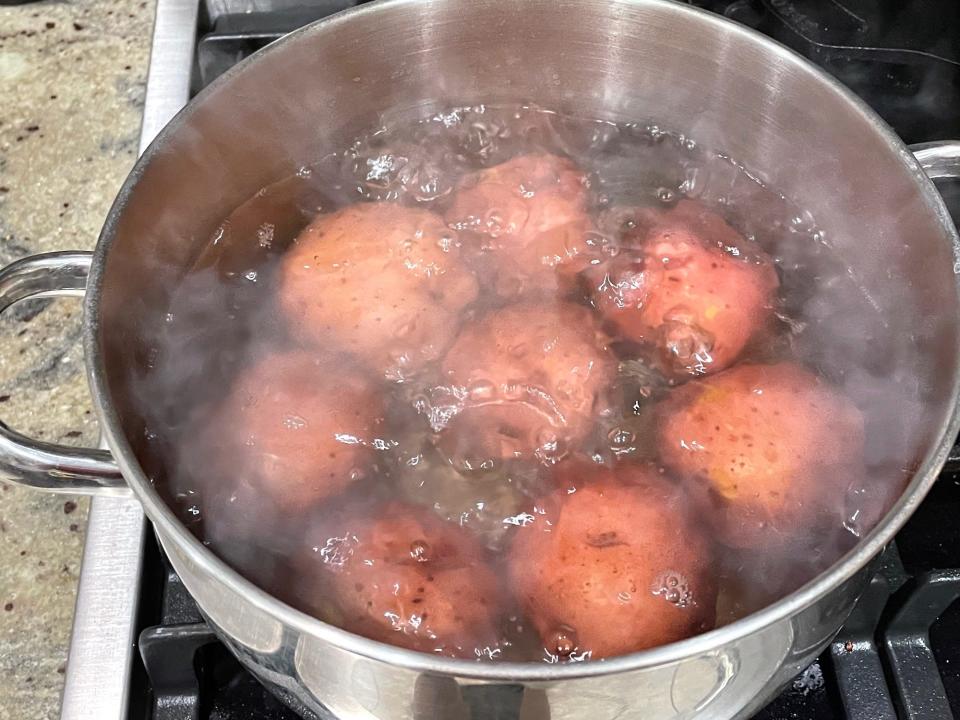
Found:
[[231, 478], [232, 497], [290, 516], [341, 492], [370, 468], [367, 443], [382, 412], [374, 384], [345, 367], [342, 357], [271, 355], [238, 378], [204, 447], [215, 474]]

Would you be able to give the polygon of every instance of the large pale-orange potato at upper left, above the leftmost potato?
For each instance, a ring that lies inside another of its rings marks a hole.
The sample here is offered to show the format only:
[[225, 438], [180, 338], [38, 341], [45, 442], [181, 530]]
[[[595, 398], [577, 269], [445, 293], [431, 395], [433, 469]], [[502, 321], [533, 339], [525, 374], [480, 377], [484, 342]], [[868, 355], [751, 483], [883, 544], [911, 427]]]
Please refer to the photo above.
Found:
[[439, 216], [391, 203], [321, 215], [280, 272], [280, 304], [295, 335], [331, 341], [402, 379], [443, 354], [477, 297], [457, 234]]

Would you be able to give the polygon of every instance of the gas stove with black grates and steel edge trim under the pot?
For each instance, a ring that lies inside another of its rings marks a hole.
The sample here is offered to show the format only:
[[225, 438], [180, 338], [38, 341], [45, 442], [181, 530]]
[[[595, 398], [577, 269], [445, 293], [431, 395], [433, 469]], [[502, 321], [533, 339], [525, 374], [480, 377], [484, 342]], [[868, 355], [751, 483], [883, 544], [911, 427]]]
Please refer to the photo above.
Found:
[[[689, 0], [808, 57], [908, 143], [960, 137], [955, 0]], [[158, 0], [141, 149], [221, 73], [362, 0]], [[960, 183], [942, 185], [960, 221]], [[960, 717], [960, 446], [830, 647], [755, 720]], [[509, 708], [474, 720], [525, 719]], [[485, 714], [483, 714], [485, 713]], [[134, 500], [90, 512], [62, 720], [299, 720], [217, 641]]]

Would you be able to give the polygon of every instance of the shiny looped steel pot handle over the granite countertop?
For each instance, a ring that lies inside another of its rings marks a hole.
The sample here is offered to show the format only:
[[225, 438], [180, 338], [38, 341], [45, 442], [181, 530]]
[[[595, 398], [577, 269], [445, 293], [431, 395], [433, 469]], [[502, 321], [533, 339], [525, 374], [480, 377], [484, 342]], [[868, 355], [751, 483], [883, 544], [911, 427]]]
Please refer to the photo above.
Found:
[[[0, 270], [0, 312], [27, 298], [83, 297], [91, 253], [56, 252]], [[128, 495], [130, 488], [106, 450], [33, 440], [0, 421], [0, 477], [57, 493]]]

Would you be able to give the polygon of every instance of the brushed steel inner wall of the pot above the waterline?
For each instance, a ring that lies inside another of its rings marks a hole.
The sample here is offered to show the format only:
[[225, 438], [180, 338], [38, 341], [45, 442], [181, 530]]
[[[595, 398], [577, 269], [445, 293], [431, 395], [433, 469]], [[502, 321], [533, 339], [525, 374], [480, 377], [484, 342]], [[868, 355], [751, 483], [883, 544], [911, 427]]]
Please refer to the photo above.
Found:
[[[912, 369], [910, 382], [883, 378], [886, 399], [872, 385], [846, 389], [887, 408], [902, 465], [923, 457], [956, 374], [941, 206], [884, 130], [803, 61], [679, 5], [607, 0], [375, 4], [281, 41], [192, 103], [138, 164], [102, 238], [103, 369], [134, 449], [150, 329], [225, 215], [387, 111], [518, 101], [655, 121], [808, 208], [884, 317], [863, 352], [882, 354], [890, 372]], [[826, 308], [824, 332], [853, 332], [860, 320]]]

